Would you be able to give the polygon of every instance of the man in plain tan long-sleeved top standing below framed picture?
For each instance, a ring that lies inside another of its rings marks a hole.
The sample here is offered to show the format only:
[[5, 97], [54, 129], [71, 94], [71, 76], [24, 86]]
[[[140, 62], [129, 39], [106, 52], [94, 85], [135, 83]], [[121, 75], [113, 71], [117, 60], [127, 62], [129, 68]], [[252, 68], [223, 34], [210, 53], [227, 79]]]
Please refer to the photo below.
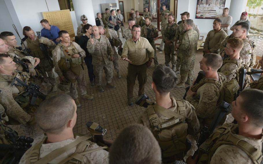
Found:
[[222, 21], [215, 19], [213, 22], [213, 30], [209, 31], [204, 43], [204, 55], [206, 53], [219, 54], [220, 43], [227, 38], [227, 33], [220, 27]]

